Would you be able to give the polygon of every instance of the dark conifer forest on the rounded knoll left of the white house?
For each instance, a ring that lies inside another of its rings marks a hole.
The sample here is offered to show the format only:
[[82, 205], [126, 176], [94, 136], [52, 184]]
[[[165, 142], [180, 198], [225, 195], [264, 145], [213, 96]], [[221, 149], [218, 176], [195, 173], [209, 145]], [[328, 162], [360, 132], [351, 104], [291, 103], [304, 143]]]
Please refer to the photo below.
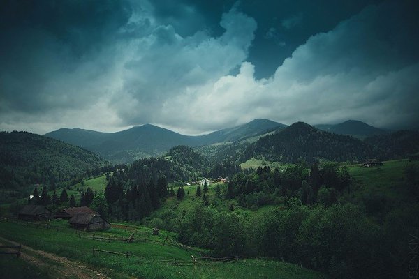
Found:
[[[210, 163], [186, 146], [176, 146], [164, 158], [136, 160], [132, 165], [117, 169], [110, 176], [105, 197], [110, 204], [110, 218], [141, 220], [158, 209], [169, 195], [174, 196], [173, 185], [179, 185], [177, 195], [182, 199], [184, 181], [233, 175], [240, 167], [226, 161], [210, 167]], [[168, 183], [172, 183], [171, 189]], [[180, 192], [179, 192], [180, 190]]]

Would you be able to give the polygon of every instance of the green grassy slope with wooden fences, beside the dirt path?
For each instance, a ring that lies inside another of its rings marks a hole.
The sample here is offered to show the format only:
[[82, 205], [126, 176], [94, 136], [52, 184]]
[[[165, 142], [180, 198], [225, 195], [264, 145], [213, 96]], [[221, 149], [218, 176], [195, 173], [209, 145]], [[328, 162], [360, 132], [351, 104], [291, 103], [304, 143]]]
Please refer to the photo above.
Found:
[[[47, 229], [28, 226], [26, 223], [1, 222], [0, 236], [37, 250], [82, 262], [95, 269], [101, 269], [111, 278], [327, 278], [322, 273], [310, 271], [295, 264], [265, 259], [240, 259], [237, 262], [205, 262], [189, 266], [174, 266], [163, 260], [177, 259], [192, 262], [191, 255], [200, 257], [200, 252], [199, 249], [186, 251], [179, 247], [163, 246], [166, 236], [170, 238], [175, 236], [171, 232], [161, 231], [160, 236], [152, 236], [151, 229], [135, 227], [139, 232], [135, 237], [147, 238], [146, 242], [107, 242], [85, 238], [91, 236], [93, 232], [81, 232], [80, 237], [75, 230], [68, 227], [66, 221], [54, 220], [50, 225], [51, 228]], [[112, 228], [106, 232], [96, 232], [96, 236], [128, 237], [131, 232], [131, 229]], [[132, 256], [126, 258], [96, 252], [96, 257], [94, 257], [93, 247], [130, 253]], [[19, 266], [21, 263], [16, 260], [11, 269], [20, 269]], [[38, 274], [41, 273], [38, 271]], [[42, 277], [47, 276], [43, 274]]]

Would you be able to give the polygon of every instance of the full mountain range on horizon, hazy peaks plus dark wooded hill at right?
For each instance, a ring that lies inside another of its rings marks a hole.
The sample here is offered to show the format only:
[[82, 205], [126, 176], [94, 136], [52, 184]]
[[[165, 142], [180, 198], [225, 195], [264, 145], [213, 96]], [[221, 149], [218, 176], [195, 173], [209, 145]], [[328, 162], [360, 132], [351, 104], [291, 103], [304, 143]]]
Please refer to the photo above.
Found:
[[[200, 153], [214, 160], [226, 157], [244, 160], [256, 155], [287, 162], [293, 162], [299, 157], [307, 160], [314, 157], [328, 160], [361, 160], [377, 154], [372, 150], [378, 149], [366, 142], [369, 137], [381, 136], [374, 140], [375, 142], [394, 142], [394, 139], [385, 140], [388, 134], [385, 130], [355, 120], [317, 126], [305, 123], [286, 126], [268, 119], [255, 119], [240, 126], [199, 136], [181, 135], [151, 124], [135, 126], [116, 133], [61, 128], [45, 136], [81, 146], [112, 163], [131, 163], [139, 158], [163, 156], [173, 146], [179, 145], [199, 147], [197, 150]], [[297, 147], [295, 144], [298, 142], [307, 145], [308, 149]], [[280, 148], [284, 151], [279, 151]], [[298, 153], [296, 149], [302, 153]], [[328, 156], [325, 156], [325, 153]]]

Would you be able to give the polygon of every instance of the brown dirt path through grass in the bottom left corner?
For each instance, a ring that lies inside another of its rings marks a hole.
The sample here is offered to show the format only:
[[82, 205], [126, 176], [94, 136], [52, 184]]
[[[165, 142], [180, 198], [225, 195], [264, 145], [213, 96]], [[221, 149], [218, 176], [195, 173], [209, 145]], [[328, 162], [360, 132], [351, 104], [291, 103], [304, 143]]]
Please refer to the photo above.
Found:
[[[19, 245], [8, 239], [3, 239], [3, 237], [0, 237], [0, 243], [3, 243], [4, 245]], [[29, 264], [38, 266], [43, 270], [51, 271], [52, 274], [58, 276], [57, 278], [108, 278], [102, 273], [94, 271], [83, 264], [70, 261], [66, 257], [59, 257], [49, 252], [35, 250], [24, 245], [22, 245], [20, 257], [25, 262], [29, 262]]]

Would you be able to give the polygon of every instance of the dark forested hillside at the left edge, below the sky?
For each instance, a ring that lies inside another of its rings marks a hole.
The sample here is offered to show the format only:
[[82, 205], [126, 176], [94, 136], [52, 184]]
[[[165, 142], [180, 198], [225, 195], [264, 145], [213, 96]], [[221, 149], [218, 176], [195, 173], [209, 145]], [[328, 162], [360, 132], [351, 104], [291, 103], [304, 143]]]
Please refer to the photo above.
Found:
[[68, 181], [108, 164], [91, 151], [50, 137], [0, 133], [0, 188], [17, 190], [31, 184]]

